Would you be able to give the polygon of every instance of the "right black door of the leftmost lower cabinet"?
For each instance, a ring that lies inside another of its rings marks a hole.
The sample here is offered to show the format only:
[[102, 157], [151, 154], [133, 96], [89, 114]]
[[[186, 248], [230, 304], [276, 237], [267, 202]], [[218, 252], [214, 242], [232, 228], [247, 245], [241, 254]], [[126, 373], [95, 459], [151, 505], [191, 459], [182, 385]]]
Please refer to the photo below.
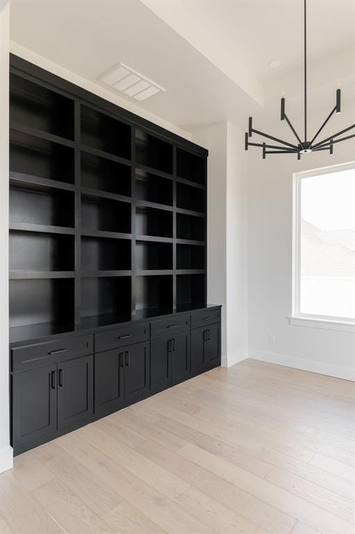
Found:
[[58, 364], [58, 428], [76, 426], [94, 413], [93, 356]]

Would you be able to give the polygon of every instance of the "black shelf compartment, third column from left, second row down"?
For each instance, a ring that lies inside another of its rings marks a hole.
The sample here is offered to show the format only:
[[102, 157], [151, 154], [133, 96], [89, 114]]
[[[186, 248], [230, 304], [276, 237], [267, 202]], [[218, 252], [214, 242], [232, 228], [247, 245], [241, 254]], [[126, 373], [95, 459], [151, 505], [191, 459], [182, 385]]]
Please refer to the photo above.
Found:
[[172, 206], [172, 180], [136, 169], [135, 197], [138, 200]]

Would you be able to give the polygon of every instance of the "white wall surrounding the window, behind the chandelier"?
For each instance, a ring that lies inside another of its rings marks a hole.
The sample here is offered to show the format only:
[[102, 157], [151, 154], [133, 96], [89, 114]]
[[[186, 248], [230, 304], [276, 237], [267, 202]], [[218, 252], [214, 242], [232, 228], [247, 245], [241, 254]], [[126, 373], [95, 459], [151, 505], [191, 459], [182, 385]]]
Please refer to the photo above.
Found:
[[[343, 96], [349, 99], [351, 95]], [[327, 111], [324, 110], [324, 117], [311, 117], [311, 130], [316, 131], [317, 125], [322, 124]], [[281, 135], [278, 122], [276, 117], [267, 130], [263, 125], [263, 130]], [[333, 118], [320, 139], [350, 124], [354, 124], [354, 107], [348, 106]], [[354, 160], [354, 140], [334, 145], [333, 156], [318, 152], [303, 156], [302, 161], [297, 161], [293, 154], [267, 156], [263, 160], [259, 149], [249, 148], [248, 159], [249, 356], [354, 379], [354, 334], [288, 323], [292, 284], [292, 173]], [[274, 344], [268, 343], [268, 334], [274, 334]]]

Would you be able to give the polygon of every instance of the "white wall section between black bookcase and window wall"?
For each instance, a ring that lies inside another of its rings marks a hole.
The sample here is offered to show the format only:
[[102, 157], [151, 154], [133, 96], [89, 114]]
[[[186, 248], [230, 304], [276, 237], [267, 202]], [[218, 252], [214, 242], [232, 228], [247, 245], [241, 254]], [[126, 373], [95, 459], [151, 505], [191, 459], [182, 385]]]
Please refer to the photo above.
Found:
[[247, 174], [244, 133], [230, 122], [195, 131], [208, 155], [208, 302], [222, 304], [222, 365], [247, 357]]

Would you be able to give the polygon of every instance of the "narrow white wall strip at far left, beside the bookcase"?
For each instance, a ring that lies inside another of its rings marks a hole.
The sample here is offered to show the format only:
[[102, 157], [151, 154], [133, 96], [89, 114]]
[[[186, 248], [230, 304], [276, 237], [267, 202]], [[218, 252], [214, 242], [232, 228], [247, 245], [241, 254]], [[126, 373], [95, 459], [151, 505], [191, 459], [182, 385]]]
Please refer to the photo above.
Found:
[[0, 1], [0, 472], [13, 467], [8, 390], [8, 43], [10, 3]]

